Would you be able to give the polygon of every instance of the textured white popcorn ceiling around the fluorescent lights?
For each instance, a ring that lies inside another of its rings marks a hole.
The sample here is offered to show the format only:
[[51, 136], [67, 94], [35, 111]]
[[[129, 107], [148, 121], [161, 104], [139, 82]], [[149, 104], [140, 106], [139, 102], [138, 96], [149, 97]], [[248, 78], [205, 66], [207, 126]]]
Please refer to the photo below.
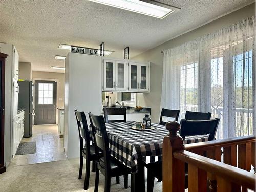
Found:
[[[114, 0], [113, 0], [114, 1]], [[252, 3], [252, 0], [159, 0], [181, 11], [158, 19], [86, 0], [0, 0], [0, 42], [14, 44], [20, 61], [34, 71], [64, 66], [55, 55], [66, 56], [60, 43], [98, 48], [104, 42], [111, 57], [130, 58], [219, 15]]]

